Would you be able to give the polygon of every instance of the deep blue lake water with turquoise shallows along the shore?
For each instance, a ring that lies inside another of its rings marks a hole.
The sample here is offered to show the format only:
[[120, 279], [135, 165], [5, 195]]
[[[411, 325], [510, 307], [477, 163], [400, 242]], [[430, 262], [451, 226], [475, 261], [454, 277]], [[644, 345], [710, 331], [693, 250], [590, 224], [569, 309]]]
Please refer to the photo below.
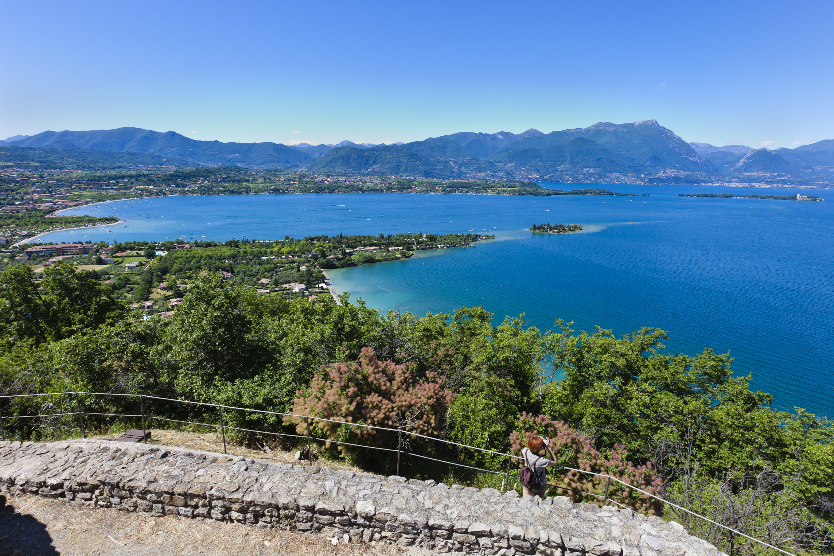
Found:
[[[559, 185], [560, 188], [565, 188]], [[419, 315], [481, 304], [525, 313], [546, 330], [663, 328], [672, 351], [730, 351], [737, 373], [774, 405], [831, 414], [834, 355], [834, 196], [828, 190], [608, 186], [651, 197], [493, 195], [183, 196], [101, 203], [64, 213], [124, 223], [50, 233], [38, 241], [276, 239], [285, 235], [454, 232], [496, 234], [476, 248], [329, 271], [371, 307]], [[680, 198], [677, 193], [803, 193], [826, 203]], [[531, 223], [580, 223], [541, 234]], [[110, 230], [108, 232], [107, 230]], [[203, 238], [205, 236], [205, 238]]]

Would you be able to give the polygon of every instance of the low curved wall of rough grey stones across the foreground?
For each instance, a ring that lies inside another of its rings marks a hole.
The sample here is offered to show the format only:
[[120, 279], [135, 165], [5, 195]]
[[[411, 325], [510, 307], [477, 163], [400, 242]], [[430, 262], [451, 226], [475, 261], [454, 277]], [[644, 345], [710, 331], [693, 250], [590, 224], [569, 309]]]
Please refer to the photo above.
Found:
[[[86, 507], [229, 520], [385, 541], [439, 553], [512, 556], [719, 556], [675, 522], [571, 503], [503, 496], [329, 468], [99, 440], [0, 443], [0, 492]], [[726, 556], [726, 555], [725, 555]]]

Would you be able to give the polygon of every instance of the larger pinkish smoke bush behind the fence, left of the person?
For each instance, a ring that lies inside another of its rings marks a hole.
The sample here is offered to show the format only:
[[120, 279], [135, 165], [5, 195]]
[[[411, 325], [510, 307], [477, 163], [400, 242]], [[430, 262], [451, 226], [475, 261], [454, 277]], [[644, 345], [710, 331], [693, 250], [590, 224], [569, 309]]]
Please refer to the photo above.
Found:
[[[455, 394], [444, 388], [445, 377], [426, 373], [419, 378], [415, 370], [413, 363], [379, 361], [373, 349], [363, 348], [359, 361], [322, 367], [309, 388], [297, 393], [293, 413], [339, 421], [310, 419], [311, 432], [315, 427], [328, 440], [366, 446], [396, 448], [397, 433], [350, 423], [439, 434]], [[294, 423], [299, 434], [306, 433], [304, 418], [286, 417], [284, 423]], [[356, 451], [351, 446], [338, 447], [345, 456]]]

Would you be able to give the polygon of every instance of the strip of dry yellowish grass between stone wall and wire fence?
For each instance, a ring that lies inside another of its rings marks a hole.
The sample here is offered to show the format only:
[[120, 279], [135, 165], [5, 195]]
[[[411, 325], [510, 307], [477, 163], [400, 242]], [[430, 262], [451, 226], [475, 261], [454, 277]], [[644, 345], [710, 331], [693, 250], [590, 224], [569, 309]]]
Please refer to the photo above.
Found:
[[[186, 448], [189, 450], [198, 450], [201, 452], [223, 453], [223, 438], [217, 433], [189, 433], [188, 431], [166, 430], [166, 429], [149, 429], [151, 430], [151, 439], [148, 444], [155, 444], [158, 446], [173, 446], [175, 448]], [[101, 440], [115, 440], [121, 436], [118, 434], [103, 434], [100, 436], [91, 436], [89, 438], [98, 438]], [[216, 438], [215, 438], [216, 437]], [[231, 442], [226, 438], [226, 452], [232, 456], [244, 456], [244, 458], [260, 459], [268, 462], [277, 463], [294, 463], [296, 465], [308, 465], [306, 459], [300, 461], [295, 459], [295, 449], [282, 448], [275, 444], [267, 446], [262, 444], [264, 449], [247, 448]], [[315, 458], [315, 444], [314, 444], [314, 459], [315, 465], [322, 467], [329, 467], [331, 469], [350, 469], [354, 473], [362, 471], [360, 468], [349, 465], [344, 462], [335, 460], [325, 460], [324, 458]]]

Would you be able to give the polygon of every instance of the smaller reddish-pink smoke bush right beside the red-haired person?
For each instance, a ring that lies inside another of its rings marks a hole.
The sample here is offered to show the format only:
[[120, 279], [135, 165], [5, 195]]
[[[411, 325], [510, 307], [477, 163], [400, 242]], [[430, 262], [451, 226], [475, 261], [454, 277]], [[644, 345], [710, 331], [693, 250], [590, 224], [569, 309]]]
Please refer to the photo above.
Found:
[[[660, 477], [655, 476], [651, 462], [635, 465], [626, 460], [625, 446], [615, 444], [610, 450], [605, 450], [606, 454], [610, 453], [610, 458], [606, 458], [593, 447], [590, 438], [575, 428], [570, 428], [564, 421], [553, 421], [547, 415], [534, 417], [533, 413], [524, 412], [521, 413], [518, 430], [510, 433], [512, 452], [520, 455], [522, 448], [527, 445], [527, 440], [535, 435], [550, 438], [553, 456], [560, 465], [607, 474], [646, 492], [660, 495], [662, 481]], [[584, 493], [605, 496], [606, 482], [605, 477], [558, 467], [548, 468], [547, 483], [557, 487], [559, 495], [568, 496], [574, 502], [600, 503], [602, 498]], [[636, 512], [657, 515], [662, 513], [663, 504], [660, 501], [613, 480], [609, 484], [608, 498]]]

